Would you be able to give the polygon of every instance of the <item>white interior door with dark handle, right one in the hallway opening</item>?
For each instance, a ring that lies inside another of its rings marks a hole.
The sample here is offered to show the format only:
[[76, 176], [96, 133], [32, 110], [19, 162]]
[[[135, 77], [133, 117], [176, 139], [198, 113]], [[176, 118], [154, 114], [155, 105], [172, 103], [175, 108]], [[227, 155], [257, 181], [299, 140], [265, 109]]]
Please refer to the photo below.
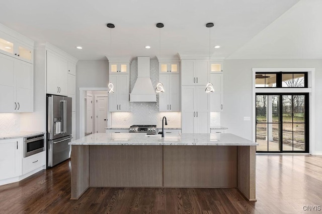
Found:
[[107, 127], [107, 96], [95, 95], [96, 133], [105, 133]]

